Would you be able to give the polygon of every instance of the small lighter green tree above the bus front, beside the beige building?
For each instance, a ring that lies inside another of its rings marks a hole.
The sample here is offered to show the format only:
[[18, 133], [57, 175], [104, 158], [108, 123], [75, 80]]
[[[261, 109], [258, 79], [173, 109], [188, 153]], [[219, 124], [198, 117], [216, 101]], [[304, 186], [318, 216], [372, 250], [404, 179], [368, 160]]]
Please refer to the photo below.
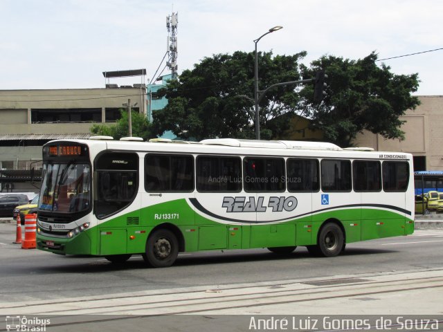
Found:
[[[117, 120], [116, 124], [93, 124], [91, 133], [96, 135], [112, 136], [118, 140], [129, 135], [129, 120], [126, 109], [120, 109], [121, 118]], [[132, 136], [141, 137], [143, 140], [154, 138], [152, 132], [152, 124], [147, 121], [147, 118], [138, 113], [138, 111], [131, 112], [132, 118]]]

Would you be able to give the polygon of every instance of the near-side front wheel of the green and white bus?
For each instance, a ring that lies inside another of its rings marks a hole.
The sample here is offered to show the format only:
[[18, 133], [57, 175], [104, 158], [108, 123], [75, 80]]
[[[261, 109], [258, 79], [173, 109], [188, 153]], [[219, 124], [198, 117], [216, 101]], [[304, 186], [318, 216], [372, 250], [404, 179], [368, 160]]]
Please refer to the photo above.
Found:
[[143, 259], [153, 268], [167, 268], [179, 255], [179, 241], [170, 230], [160, 229], [150, 234], [146, 241]]

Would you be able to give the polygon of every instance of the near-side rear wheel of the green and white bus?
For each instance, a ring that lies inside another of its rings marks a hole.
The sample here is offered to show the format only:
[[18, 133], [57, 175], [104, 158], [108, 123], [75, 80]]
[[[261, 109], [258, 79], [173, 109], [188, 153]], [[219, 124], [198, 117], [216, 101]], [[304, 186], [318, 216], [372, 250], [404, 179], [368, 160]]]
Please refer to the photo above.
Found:
[[318, 251], [323, 257], [336, 257], [342, 252], [344, 244], [345, 237], [340, 226], [327, 223], [318, 234], [317, 250], [314, 251]]

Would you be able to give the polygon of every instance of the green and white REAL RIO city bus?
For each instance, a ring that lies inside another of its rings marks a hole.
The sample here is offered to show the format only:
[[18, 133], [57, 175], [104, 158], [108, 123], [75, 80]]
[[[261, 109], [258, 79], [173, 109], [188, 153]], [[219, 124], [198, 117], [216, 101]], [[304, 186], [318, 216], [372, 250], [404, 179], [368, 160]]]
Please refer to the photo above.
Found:
[[347, 243], [412, 234], [410, 154], [331, 143], [137, 138], [43, 147], [37, 248], [170, 266], [179, 252]]

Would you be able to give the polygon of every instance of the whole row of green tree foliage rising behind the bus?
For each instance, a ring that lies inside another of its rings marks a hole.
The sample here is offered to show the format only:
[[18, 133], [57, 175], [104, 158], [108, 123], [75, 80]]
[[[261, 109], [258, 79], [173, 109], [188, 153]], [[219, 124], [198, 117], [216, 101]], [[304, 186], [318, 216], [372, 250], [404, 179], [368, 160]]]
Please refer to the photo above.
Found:
[[[298, 63], [305, 55], [259, 53], [261, 90], [301, 77], [313, 78], [320, 68], [328, 75], [326, 96], [320, 104], [314, 104], [314, 84], [270, 89], [260, 102], [262, 139], [281, 137], [291, 114], [308, 118], [311, 129], [323, 131], [325, 140], [342, 147], [352, 146], [357, 133], [365, 129], [384, 138], [404, 138], [399, 116], [419, 104], [418, 98], [410, 95], [417, 91], [417, 74], [391, 73], [389, 66], [377, 65], [376, 53], [358, 60], [323, 56], [309, 68]], [[170, 130], [186, 140], [254, 138], [253, 93], [253, 52], [205, 57], [192, 70], [183, 71], [179, 80], [170, 80], [158, 91], [159, 98], [168, 98], [168, 104], [154, 111], [152, 124], [133, 113], [134, 136], [152, 138]], [[127, 136], [126, 111], [116, 126], [96, 125], [92, 132]]]

